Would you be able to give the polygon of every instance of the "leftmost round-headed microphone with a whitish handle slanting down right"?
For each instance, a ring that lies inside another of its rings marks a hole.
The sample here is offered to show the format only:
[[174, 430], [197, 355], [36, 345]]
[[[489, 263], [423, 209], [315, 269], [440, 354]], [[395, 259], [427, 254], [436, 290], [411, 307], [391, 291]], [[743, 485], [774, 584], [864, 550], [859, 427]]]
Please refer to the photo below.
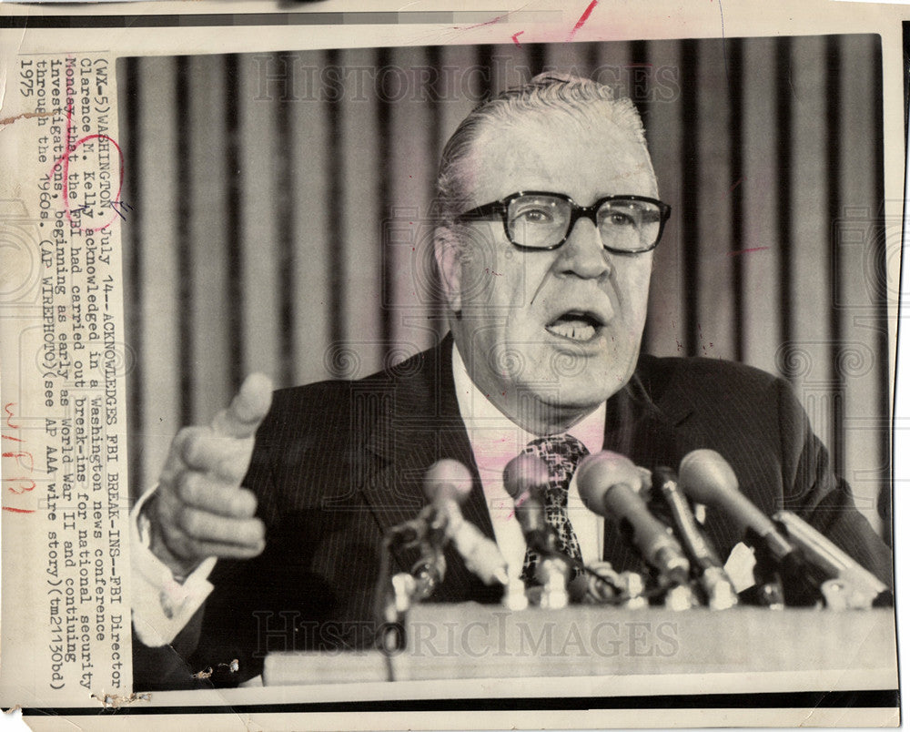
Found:
[[484, 585], [507, 585], [509, 575], [499, 547], [461, 513], [460, 504], [468, 499], [472, 485], [470, 471], [457, 460], [439, 460], [430, 465], [423, 477], [423, 491], [431, 504], [432, 540], [440, 548], [446, 541], [455, 544], [465, 566]]

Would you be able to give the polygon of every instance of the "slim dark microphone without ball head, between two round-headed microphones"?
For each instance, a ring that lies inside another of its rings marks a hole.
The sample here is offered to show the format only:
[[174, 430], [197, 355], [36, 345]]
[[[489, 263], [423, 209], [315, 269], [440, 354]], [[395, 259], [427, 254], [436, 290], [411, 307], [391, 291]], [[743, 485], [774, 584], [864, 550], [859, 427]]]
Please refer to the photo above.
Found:
[[654, 468], [652, 486], [662, 494], [682, 545], [702, 572], [700, 579], [708, 597], [708, 605], [714, 610], [725, 610], [736, 605], [733, 583], [723, 571], [723, 564], [711, 540], [695, 521], [689, 502], [680, 490], [676, 473], [666, 467]]

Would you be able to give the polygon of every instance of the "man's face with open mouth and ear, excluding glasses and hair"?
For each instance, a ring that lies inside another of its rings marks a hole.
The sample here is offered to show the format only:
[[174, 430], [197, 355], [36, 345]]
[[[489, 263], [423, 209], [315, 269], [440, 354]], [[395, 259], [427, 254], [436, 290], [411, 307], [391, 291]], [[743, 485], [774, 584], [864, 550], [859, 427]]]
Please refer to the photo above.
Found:
[[[465, 169], [470, 206], [516, 191], [562, 193], [581, 206], [616, 194], [657, 197], [647, 152], [609, 118], [488, 123]], [[638, 359], [652, 253], [603, 249], [591, 219], [552, 251], [516, 249], [501, 219], [466, 226], [463, 255], [442, 249], [440, 265], [460, 312], [456, 342], [490, 400], [521, 422], [529, 396], [581, 415], [621, 389]]]

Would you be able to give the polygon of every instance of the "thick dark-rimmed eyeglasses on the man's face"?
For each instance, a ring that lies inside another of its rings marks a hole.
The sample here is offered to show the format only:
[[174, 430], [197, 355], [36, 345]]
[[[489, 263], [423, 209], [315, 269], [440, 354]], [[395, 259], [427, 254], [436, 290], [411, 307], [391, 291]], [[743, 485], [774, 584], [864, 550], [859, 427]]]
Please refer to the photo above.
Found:
[[591, 206], [579, 206], [562, 193], [521, 191], [471, 208], [460, 220], [501, 216], [506, 236], [526, 251], [559, 249], [575, 223], [591, 219], [604, 249], [617, 254], [641, 254], [654, 249], [670, 218], [670, 206], [644, 196], [605, 196]]

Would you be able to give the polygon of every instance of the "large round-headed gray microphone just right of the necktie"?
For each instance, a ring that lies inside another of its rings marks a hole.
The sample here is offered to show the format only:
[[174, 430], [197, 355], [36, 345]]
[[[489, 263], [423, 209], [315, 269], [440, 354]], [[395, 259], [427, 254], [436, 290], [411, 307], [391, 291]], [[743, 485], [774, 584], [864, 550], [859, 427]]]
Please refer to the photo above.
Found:
[[615, 452], [589, 455], [575, 473], [581, 502], [602, 516], [613, 516], [631, 529], [632, 544], [645, 561], [671, 585], [688, 585], [689, 560], [682, 547], [648, 511], [638, 491], [642, 473], [629, 458]]

